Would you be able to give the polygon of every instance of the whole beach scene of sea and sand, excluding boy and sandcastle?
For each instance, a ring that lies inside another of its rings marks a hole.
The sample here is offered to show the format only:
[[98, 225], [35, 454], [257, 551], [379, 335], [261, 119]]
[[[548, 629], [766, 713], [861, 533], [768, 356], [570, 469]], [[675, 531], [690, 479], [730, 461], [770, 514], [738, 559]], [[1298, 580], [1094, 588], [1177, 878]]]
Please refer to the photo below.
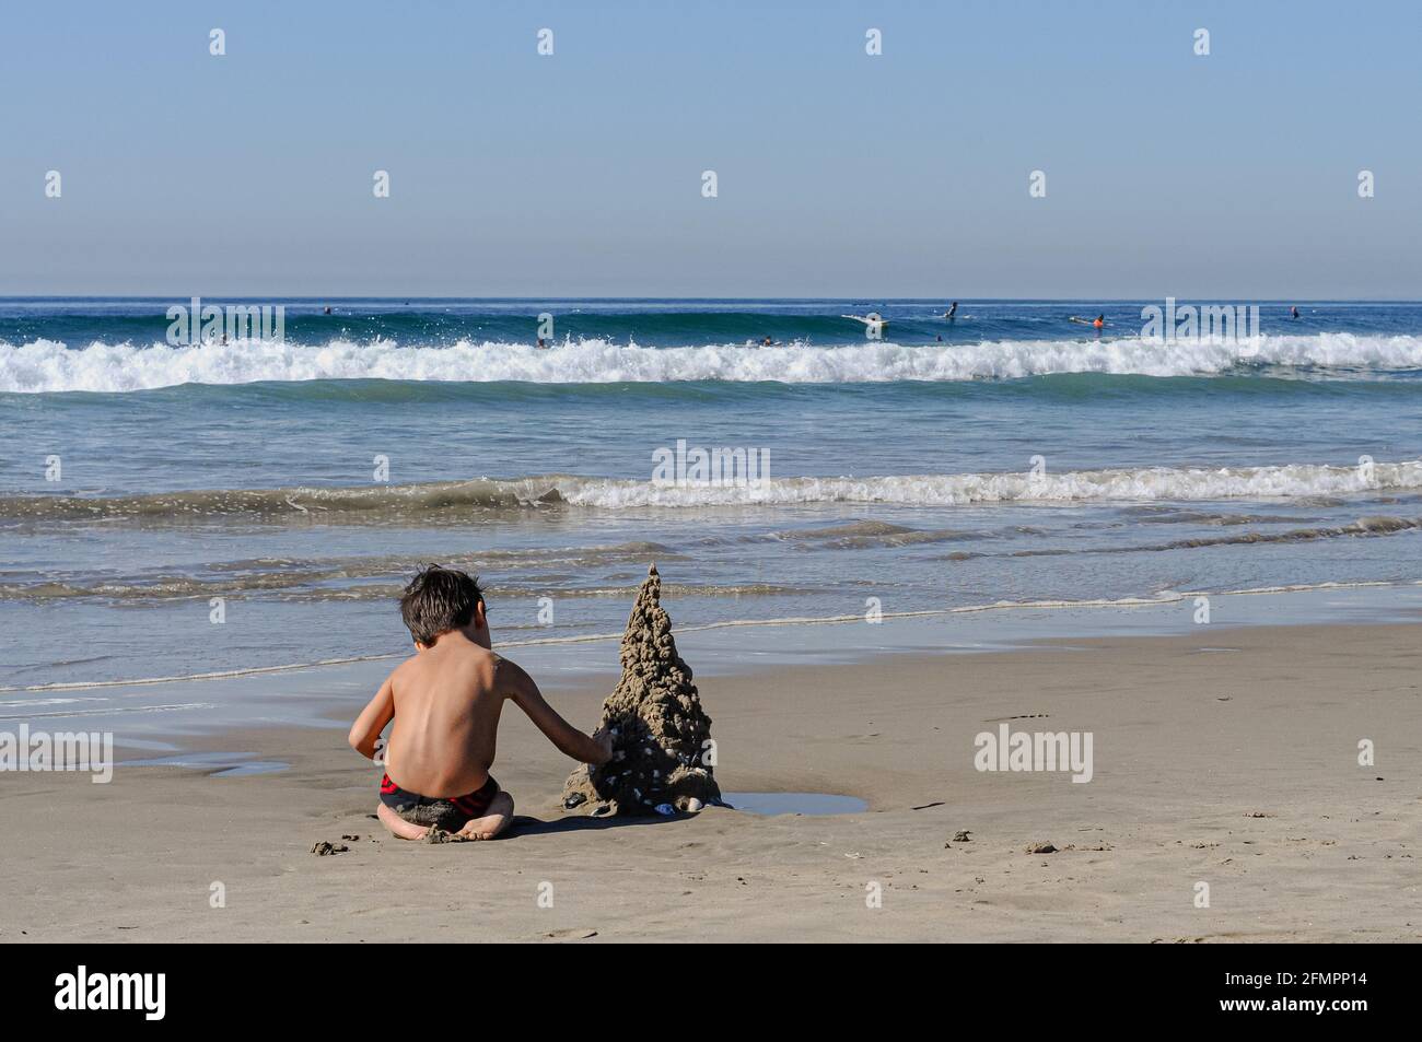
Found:
[[[1418, 940], [1422, 306], [1095, 307], [0, 301], [0, 940]], [[656, 563], [738, 809], [385, 834], [429, 562], [587, 729]]]

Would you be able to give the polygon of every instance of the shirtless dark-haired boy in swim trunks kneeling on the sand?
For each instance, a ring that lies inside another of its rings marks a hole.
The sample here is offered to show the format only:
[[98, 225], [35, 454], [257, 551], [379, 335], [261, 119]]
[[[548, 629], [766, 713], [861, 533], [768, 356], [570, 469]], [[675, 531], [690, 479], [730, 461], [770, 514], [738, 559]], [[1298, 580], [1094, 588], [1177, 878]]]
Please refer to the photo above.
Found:
[[380, 783], [380, 820], [401, 839], [429, 829], [493, 839], [513, 819], [493, 765], [499, 712], [512, 701], [557, 749], [584, 763], [611, 758], [611, 736], [584, 735], [543, 701], [523, 670], [491, 651], [483, 591], [464, 571], [431, 564], [400, 598], [415, 655], [401, 662], [351, 726], [350, 743], [375, 758], [394, 721]]

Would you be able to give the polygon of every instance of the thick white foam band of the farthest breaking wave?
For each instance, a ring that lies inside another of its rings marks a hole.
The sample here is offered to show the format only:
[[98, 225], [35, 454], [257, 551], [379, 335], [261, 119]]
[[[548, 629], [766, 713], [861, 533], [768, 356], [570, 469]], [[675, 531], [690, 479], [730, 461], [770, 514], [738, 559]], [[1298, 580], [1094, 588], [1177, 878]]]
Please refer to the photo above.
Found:
[[1122, 338], [774, 348], [729, 344], [657, 348], [582, 340], [550, 350], [506, 343], [418, 347], [347, 340], [320, 345], [242, 341], [195, 347], [95, 341], [71, 348], [53, 340], [36, 340], [21, 345], [0, 344], [0, 392], [122, 392], [178, 384], [304, 380], [856, 384], [1010, 380], [1057, 372], [1214, 375], [1237, 367], [1416, 370], [1422, 368], [1422, 337], [1321, 333], [1240, 343], [1162, 344]]

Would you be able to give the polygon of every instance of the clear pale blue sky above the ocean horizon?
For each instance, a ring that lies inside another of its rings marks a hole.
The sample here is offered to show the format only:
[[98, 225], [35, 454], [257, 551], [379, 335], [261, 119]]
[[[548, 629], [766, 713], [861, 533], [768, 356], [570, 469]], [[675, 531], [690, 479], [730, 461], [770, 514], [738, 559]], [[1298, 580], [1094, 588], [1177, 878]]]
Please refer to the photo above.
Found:
[[1422, 297], [1416, 3], [4, 20], [7, 296]]

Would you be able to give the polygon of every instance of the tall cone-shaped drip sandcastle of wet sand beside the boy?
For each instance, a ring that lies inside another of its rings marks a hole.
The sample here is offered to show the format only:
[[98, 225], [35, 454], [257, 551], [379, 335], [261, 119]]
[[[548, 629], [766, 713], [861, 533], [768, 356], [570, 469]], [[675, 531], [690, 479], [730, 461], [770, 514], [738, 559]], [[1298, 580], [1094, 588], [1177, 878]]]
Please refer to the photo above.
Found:
[[721, 789], [705, 763], [711, 718], [701, 708], [691, 667], [677, 654], [656, 564], [647, 569], [627, 618], [621, 665], [621, 680], [603, 702], [602, 726], [613, 732], [613, 758], [569, 775], [563, 806], [587, 805], [593, 815], [648, 815], [657, 807], [687, 812], [720, 802]]

